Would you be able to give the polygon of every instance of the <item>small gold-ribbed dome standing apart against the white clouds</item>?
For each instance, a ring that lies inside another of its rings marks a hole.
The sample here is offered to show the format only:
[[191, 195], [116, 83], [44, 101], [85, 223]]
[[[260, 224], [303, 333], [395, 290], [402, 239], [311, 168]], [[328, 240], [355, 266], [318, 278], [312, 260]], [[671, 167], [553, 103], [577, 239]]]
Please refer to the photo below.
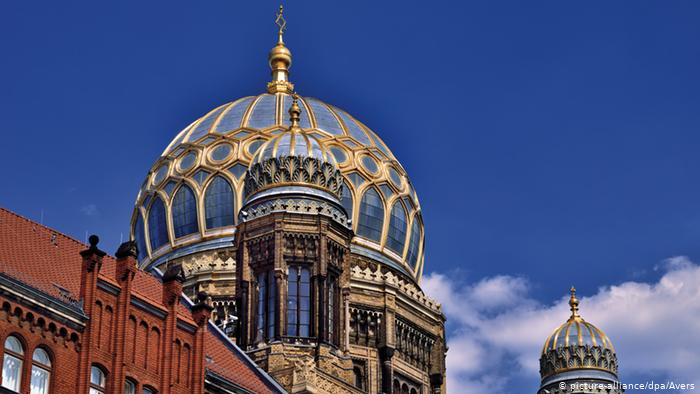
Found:
[[[605, 333], [579, 314], [576, 289], [571, 288], [571, 317], [550, 335], [542, 348], [540, 374], [543, 382], [571, 371], [595, 371], [617, 375], [617, 356]], [[602, 375], [601, 375], [602, 376]]]

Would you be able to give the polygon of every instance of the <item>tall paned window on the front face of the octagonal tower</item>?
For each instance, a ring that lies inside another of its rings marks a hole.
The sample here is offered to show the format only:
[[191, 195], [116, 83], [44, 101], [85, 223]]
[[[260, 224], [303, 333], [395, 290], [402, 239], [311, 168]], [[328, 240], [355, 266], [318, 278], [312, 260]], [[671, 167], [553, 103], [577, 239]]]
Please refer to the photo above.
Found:
[[302, 266], [290, 266], [287, 285], [287, 335], [308, 337], [311, 326], [311, 275], [309, 269]]

